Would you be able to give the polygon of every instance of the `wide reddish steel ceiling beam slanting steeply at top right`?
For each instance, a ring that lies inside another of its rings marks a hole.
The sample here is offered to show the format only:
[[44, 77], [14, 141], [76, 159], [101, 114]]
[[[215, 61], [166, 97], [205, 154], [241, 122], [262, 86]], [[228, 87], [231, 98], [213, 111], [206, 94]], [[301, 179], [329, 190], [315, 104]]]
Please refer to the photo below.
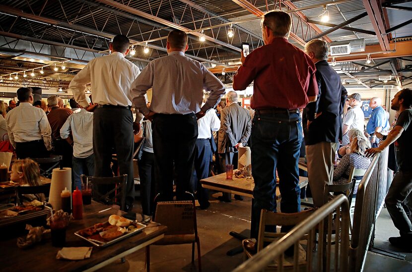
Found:
[[373, 29], [376, 32], [376, 37], [378, 38], [379, 45], [382, 51], [388, 51], [389, 49], [389, 39], [386, 33], [385, 23], [382, 17], [382, 11], [380, 8], [379, 0], [363, 0], [363, 5], [365, 6], [366, 12], [368, 13], [370, 22], [372, 23]]

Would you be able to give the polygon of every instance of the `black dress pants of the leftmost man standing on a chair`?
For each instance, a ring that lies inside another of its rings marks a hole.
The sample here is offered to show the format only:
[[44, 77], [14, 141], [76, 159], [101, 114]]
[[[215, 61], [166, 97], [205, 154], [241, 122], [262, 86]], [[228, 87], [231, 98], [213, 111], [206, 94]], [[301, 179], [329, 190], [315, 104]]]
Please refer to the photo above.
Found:
[[98, 177], [113, 176], [110, 163], [114, 147], [119, 163], [119, 174], [128, 175], [126, 186], [126, 203], [128, 204], [133, 203], [135, 195], [133, 144], [133, 114], [130, 109], [113, 107], [97, 108], [94, 111], [94, 175]]

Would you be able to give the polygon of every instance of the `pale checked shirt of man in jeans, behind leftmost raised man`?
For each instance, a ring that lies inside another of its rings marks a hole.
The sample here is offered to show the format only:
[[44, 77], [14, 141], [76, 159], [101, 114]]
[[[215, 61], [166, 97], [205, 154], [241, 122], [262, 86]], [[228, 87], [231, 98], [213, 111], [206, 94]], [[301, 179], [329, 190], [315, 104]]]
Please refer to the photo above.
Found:
[[87, 158], [93, 154], [93, 112], [80, 109], [71, 114], [60, 129], [62, 139], [73, 136], [73, 156]]

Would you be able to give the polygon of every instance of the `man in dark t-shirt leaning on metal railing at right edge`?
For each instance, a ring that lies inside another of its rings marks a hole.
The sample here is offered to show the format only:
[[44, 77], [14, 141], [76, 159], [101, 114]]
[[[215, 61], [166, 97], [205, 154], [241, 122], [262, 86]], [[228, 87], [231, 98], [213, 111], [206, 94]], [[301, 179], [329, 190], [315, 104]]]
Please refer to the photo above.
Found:
[[412, 222], [402, 206], [412, 191], [412, 89], [399, 91], [392, 100], [391, 109], [399, 113], [395, 127], [379, 147], [368, 149], [366, 154], [370, 157], [395, 142], [398, 172], [389, 187], [385, 204], [401, 236], [390, 237], [389, 242], [396, 247], [412, 250]]

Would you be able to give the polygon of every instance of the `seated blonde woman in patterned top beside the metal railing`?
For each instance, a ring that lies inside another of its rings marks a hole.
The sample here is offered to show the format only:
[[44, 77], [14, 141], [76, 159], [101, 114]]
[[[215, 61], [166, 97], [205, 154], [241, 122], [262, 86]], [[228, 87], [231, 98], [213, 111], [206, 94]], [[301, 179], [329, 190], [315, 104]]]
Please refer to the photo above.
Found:
[[[343, 156], [341, 162], [334, 170], [333, 184], [345, 184], [348, 182], [350, 169], [352, 167], [357, 169], [367, 169], [370, 164], [370, 159], [365, 157], [366, 149], [370, 148], [370, 142], [363, 135], [363, 132], [357, 128], [349, 130], [350, 143], [346, 147], [347, 154]], [[355, 189], [353, 194], [356, 194], [359, 186], [361, 176], [355, 176]]]

